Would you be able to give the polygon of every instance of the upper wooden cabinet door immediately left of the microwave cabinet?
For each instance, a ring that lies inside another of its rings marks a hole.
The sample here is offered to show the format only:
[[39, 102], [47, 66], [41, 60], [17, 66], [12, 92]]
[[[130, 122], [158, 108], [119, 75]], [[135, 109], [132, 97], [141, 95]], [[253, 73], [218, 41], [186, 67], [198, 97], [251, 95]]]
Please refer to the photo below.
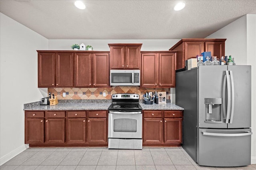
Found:
[[108, 54], [93, 54], [93, 86], [109, 87]]

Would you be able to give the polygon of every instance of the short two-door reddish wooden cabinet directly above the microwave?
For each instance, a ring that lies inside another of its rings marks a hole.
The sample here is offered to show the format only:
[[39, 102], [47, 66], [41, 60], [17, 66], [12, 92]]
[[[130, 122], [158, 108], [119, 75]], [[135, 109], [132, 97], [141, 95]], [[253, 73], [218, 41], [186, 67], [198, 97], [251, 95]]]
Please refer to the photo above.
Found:
[[110, 69], [140, 69], [142, 44], [108, 44]]

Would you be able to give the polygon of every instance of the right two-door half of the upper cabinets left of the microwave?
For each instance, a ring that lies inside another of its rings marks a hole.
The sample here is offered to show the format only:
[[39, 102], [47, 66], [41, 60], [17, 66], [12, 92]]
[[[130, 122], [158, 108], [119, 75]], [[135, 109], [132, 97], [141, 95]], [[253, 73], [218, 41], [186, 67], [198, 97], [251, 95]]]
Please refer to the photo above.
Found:
[[108, 53], [75, 53], [75, 87], [109, 87]]

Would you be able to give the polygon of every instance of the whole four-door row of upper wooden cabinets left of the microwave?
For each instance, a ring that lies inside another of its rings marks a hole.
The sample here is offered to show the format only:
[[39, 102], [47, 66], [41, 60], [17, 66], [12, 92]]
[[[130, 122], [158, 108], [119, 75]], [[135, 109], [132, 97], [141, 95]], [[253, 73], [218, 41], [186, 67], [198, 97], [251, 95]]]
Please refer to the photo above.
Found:
[[109, 87], [109, 51], [37, 51], [38, 87]]

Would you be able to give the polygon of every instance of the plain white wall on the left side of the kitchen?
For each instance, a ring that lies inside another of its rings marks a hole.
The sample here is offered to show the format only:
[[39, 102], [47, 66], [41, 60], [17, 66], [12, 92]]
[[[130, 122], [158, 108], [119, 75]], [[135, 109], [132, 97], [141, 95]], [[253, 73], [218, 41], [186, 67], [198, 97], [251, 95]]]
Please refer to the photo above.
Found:
[[37, 49], [48, 39], [0, 13], [0, 165], [25, 149], [23, 104], [42, 98]]

